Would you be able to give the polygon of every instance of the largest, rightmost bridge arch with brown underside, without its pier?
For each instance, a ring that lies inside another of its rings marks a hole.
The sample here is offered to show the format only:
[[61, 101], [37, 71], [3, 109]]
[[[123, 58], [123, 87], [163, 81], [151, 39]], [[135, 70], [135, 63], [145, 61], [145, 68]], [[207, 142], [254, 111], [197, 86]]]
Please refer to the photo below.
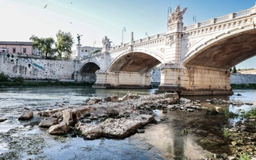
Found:
[[256, 30], [236, 28], [202, 40], [188, 50], [182, 61], [184, 66], [228, 70], [253, 56], [256, 56]]

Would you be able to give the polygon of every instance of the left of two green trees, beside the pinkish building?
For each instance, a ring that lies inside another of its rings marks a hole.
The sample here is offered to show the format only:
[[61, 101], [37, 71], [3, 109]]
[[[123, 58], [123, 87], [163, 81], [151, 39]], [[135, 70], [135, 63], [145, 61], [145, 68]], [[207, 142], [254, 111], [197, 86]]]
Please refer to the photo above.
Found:
[[32, 46], [39, 50], [41, 56], [46, 56], [46, 58], [54, 56], [56, 50], [52, 47], [55, 43], [52, 37], [39, 38], [33, 35], [30, 37], [30, 40], [32, 40]]

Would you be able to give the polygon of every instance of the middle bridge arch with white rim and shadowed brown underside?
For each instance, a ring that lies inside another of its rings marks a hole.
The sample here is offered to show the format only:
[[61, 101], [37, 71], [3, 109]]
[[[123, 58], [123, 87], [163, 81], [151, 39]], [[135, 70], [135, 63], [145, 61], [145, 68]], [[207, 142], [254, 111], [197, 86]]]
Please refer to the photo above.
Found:
[[109, 72], [151, 72], [159, 63], [164, 62], [164, 56], [150, 50], [126, 51], [115, 57], [108, 67]]

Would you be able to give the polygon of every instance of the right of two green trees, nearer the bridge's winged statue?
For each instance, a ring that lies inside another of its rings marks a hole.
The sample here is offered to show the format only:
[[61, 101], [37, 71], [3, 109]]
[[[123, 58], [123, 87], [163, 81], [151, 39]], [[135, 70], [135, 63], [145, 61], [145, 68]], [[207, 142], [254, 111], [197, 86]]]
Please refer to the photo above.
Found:
[[56, 37], [56, 51], [59, 53], [58, 57], [61, 58], [64, 56], [66, 58], [70, 58], [72, 53], [72, 45], [74, 43], [72, 35], [70, 32], [65, 33], [59, 30]]

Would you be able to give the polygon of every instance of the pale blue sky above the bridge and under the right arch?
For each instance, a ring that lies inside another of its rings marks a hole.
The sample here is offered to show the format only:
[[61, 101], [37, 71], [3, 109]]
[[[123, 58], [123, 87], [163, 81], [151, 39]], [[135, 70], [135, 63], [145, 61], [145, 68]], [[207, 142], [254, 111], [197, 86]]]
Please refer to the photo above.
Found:
[[[242, 11], [255, 5], [255, 0], [0, 0], [1, 41], [29, 41], [29, 37], [53, 37], [58, 30], [71, 32], [82, 46], [102, 46], [104, 36], [118, 45], [134, 39], [165, 33], [168, 8], [187, 8], [184, 26]], [[47, 4], [47, 7], [43, 7]], [[75, 49], [75, 45], [73, 46]], [[256, 69], [256, 57], [236, 68]]]

